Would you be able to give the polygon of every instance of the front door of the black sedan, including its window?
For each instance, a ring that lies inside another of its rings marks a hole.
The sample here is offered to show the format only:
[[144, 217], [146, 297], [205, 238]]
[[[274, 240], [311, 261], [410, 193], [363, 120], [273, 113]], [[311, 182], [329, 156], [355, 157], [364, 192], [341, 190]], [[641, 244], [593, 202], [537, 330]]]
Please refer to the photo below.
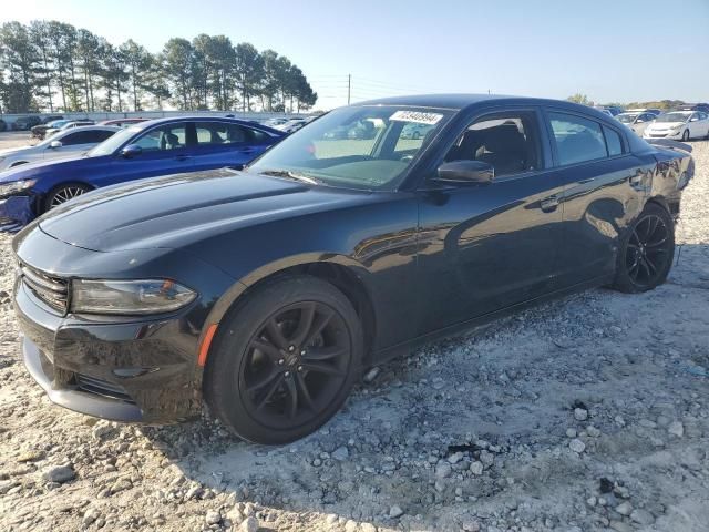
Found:
[[556, 288], [562, 185], [540, 124], [536, 109], [475, 117], [441, 163], [486, 162], [493, 182], [431, 181], [420, 191], [419, 286], [428, 308], [420, 334]]

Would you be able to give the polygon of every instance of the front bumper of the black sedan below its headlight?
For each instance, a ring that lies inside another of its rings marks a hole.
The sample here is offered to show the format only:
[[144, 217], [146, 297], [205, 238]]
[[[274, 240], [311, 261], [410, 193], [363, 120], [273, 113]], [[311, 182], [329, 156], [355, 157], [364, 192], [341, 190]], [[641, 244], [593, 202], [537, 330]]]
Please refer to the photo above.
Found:
[[14, 306], [24, 365], [52, 402], [127, 422], [199, 415], [196, 338], [182, 317], [111, 324], [62, 317], [20, 278]]

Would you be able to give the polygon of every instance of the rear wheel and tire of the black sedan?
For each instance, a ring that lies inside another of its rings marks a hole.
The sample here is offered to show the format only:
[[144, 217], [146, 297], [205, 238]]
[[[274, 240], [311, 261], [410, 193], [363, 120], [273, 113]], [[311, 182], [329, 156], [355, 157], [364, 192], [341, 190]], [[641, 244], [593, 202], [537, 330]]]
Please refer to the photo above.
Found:
[[614, 288], [637, 294], [665, 283], [675, 257], [675, 223], [650, 203], [620, 238]]

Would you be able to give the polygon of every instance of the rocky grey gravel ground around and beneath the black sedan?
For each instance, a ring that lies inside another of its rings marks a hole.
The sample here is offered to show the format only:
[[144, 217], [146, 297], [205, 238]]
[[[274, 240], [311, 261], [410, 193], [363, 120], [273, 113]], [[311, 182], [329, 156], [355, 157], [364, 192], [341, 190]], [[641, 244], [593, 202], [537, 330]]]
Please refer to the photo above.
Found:
[[281, 448], [52, 406], [19, 360], [0, 235], [0, 530], [706, 532], [709, 142], [693, 146], [666, 285], [427, 346]]

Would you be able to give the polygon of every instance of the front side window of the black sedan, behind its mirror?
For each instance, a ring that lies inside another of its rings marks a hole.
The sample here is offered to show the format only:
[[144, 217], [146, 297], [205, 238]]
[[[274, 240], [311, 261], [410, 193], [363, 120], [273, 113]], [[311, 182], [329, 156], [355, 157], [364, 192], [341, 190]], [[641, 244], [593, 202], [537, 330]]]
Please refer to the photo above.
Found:
[[495, 177], [538, 170], [536, 131], [533, 112], [489, 115], [465, 130], [445, 161], [482, 161], [495, 168]]

